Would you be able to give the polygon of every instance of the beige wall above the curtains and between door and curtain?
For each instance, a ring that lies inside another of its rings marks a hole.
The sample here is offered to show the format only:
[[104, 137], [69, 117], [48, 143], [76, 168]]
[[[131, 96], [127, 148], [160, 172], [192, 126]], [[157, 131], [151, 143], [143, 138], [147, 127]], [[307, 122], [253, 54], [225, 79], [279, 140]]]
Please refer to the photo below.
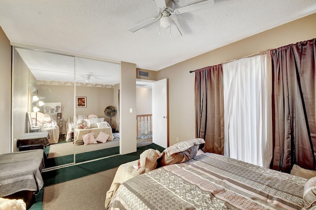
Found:
[[194, 80], [197, 70], [233, 59], [316, 38], [316, 13], [250, 36], [195, 58], [159, 70], [157, 80], [169, 82], [169, 145], [195, 138]]

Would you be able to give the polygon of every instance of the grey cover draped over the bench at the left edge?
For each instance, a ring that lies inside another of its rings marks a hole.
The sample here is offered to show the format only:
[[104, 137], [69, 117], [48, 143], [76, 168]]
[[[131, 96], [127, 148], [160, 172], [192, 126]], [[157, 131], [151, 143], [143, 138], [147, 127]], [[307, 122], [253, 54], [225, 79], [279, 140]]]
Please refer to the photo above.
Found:
[[40, 191], [44, 185], [42, 149], [0, 155], [0, 197], [29, 190]]

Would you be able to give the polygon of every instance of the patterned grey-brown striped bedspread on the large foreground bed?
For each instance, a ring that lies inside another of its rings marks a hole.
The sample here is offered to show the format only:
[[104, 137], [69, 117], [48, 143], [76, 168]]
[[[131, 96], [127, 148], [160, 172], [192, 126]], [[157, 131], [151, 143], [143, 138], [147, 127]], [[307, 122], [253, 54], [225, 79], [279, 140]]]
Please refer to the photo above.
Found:
[[127, 180], [110, 209], [302, 209], [307, 180], [205, 153]]

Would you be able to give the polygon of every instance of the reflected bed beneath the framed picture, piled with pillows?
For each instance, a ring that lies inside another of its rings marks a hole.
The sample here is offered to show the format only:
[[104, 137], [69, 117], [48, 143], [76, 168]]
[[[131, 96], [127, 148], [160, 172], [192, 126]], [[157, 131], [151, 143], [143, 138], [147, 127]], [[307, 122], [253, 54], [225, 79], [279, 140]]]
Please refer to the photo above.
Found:
[[82, 137], [86, 134], [94, 133], [94, 138], [96, 139], [100, 131], [110, 136], [108, 140], [113, 140], [110, 124], [104, 121], [104, 117], [98, 117], [95, 114], [81, 114], [76, 115], [76, 117], [69, 117], [66, 120], [66, 129], [66, 141], [75, 139], [76, 145], [83, 144]]

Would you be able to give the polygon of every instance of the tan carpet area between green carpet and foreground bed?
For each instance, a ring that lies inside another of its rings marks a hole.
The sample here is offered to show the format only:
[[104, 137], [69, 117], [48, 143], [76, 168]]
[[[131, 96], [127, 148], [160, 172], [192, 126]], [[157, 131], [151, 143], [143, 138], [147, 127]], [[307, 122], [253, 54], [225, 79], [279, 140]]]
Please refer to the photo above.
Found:
[[103, 210], [118, 167], [44, 188], [43, 210]]

